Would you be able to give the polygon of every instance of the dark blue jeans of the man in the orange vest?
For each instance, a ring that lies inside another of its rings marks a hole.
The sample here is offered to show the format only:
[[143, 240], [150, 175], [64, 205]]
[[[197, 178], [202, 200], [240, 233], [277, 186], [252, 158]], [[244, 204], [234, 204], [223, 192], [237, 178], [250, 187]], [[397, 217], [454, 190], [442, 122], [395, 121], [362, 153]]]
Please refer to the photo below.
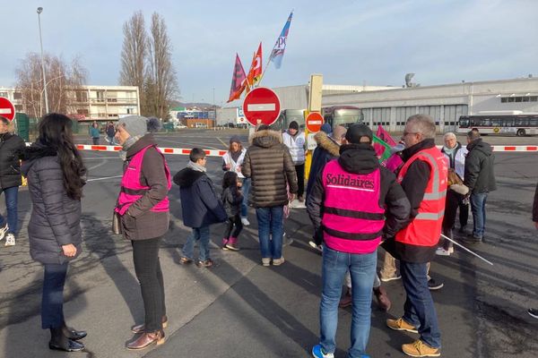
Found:
[[422, 342], [433, 348], [440, 348], [441, 332], [428, 288], [428, 264], [402, 260], [400, 274], [407, 295], [404, 303], [404, 320], [418, 328]]

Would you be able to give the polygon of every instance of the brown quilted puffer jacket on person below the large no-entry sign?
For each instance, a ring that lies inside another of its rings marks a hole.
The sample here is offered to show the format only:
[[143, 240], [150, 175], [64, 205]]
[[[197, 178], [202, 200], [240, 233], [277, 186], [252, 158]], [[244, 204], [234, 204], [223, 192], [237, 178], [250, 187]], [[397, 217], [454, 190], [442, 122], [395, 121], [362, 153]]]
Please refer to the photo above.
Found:
[[251, 136], [250, 142], [241, 173], [252, 178], [254, 206], [272, 208], [288, 204], [286, 184], [291, 193], [296, 193], [297, 174], [282, 136], [270, 130], [259, 131]]

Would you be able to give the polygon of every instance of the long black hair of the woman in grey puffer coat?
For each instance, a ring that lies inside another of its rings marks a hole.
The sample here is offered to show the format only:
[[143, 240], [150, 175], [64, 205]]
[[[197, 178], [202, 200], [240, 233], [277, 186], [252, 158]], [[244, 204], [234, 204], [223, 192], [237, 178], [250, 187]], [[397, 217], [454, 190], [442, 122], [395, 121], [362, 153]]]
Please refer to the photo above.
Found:
[[80, 200], [82, 186], [85, 183], [86, 167], [74, 145], [72, 125], [73, 123], [68, 116], [49, 113], [39, 121], [37, 141], [41, 145], [56, 150], [64, 173], [65, 192], [69, 198]]

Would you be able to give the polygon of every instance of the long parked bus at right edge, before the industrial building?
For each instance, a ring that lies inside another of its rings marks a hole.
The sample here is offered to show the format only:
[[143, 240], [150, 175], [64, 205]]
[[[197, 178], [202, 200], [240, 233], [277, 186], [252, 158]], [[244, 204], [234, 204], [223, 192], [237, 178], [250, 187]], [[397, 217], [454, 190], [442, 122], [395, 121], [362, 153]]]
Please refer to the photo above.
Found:
[[519, 137], [538, 134], [538, 114], [513, 111], [513, 114], [481, 112], [478, 115], [462, 115], [457, 132], [477, 129], [483, 134], [515, 134]]

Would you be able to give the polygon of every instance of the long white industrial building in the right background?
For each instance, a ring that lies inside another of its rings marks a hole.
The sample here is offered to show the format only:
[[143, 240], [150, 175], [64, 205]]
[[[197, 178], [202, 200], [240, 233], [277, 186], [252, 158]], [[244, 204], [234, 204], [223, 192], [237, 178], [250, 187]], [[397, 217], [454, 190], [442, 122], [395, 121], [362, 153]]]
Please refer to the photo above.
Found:
[[[273, 89], [282, 109], [308, 107], [308, 84]], [[462, 81], [460, 83], [418, 87], [375, 87], [323, 85], [323, 107], [360, 107], [364, 123], [381, 124], [391, 132], [404, 130], [410, 115], [431, 115], [438, 132], [456, 130], [460, 115], [476, 115], [485, 111], [538, 112], [538, 78], [496, 81]], [[235, 109], [235, 108], [233, 108]], [[233, 113], [232, 108], [217, 111]], [[223, 119], [223, 118], [222, 118]], [[226, 118], [229, 121], [230, 118]]]

